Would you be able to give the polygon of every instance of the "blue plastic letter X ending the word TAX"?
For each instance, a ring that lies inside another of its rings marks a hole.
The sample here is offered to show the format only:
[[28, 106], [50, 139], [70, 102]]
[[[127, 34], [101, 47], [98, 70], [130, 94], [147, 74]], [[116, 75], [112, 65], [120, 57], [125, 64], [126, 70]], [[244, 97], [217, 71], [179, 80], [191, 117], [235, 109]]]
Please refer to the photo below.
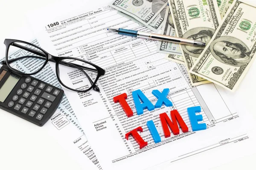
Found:
[[167, 99], [167, 95], [169, 94], [170, 89], [169, 88], [165, 88], [163, 89], [163, 92], [161, 93], [159, 90], [153, 90], [152, 94], [154, 94], [154, 96], [157, 97], [157, 103], [155, 105], [155, 108], [161, 108], [162, 105], [166, 105], [167, 107], [172, 106], [172, 102]]

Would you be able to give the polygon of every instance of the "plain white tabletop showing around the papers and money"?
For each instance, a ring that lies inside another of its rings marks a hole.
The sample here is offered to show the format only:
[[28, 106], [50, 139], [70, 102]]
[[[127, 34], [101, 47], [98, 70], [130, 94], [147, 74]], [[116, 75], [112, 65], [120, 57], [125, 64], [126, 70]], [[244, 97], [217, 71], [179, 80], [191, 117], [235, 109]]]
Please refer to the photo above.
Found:
[[[32, 35], [30, 26], [26, 23], [26, 14], [29, 11], [34, 11], [42, 6], [49, 6], [53, 2], [63, 3], [64, 1], [0, 0], [0, 57], [5, 57], [5, 45], [3, 44], [5, 38], [29, 41], [36, 37]], [[88, 5], [101, 1], [103, 2], [103, 0], [84, 0]], [[111, 2], [111, 0], [108, 1]], [[253, 0], [250, 1], [253, 2]], [[256, 4], [256, 2], [254, 3]], [[253, 114], [256, 120], [255, 74], [256, 62], [253, 63], [238, 90], [233, 94], [230, 93], [230, 97], [234, 99], [238, 113], [248, 112]], [[67, 161], [69, 159], [70, 161]], [[256, 169], [255, 160], [256, 154], [236, 159], [213, 169]], [[81, 167], [73, 160], [72, 155], [68, 155], [57, 141], [47, 133], [44, 127], [37, 127], [0, 110], [0, 170], [16, 169], [80, 170]]]

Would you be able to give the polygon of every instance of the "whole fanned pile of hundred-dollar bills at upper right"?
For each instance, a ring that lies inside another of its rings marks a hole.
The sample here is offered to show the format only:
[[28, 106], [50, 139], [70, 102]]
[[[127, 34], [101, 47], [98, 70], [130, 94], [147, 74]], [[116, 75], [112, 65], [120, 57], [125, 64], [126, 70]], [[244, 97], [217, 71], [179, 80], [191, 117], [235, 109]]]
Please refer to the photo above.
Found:
[[256, 51], [256, 7], [244, 0], [115, 0], [120, 14], [152, 31], [206, 43], [159, 42], [166, 59], [186, 65], [192, 85], [214, 82], [235, 91]]

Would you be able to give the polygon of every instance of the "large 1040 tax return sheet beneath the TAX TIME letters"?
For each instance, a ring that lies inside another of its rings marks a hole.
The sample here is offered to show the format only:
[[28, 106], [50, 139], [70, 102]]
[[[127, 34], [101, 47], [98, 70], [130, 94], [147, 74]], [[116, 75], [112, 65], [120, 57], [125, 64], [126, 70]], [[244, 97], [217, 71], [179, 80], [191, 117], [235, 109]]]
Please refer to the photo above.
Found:
[[[120, 16], [109, 6], [98, 6], [88, 11], [83, 8], [81, 13], [76, 11], [59, 16], [54, 20], [45, 17], [38, 23], [42, 30], [38, 34], [42, 47], [55, 51], [58, 56], [84, 59], [106, 70], [105, 76], [97, 82], [100, 92], [77, 93], [64, 88], [103, 169], [145, 169], [202, 150], [229, 145], [236, 147], [236, 144], [252, 140], [247, 130], [251, 127], [246, 124], [250, 119], [234, 111], [222, 89], [214, 84], [192, 87], [184, 65], [166, 60], [164, 54], [157, 53], [157, 41], [106, 30], [150, 31], [144, 26]], [[74, 88], [83, 81], [79, 74], [68, 68], [62, 74], [66, 74]], [[95, 78], [96, 75], [90, 76]], [[167, 97], [173, 106], [144, 110], [138, 116], [131, 92], [140, 89], [155, 104], [157, 98], [151, 91], [163, 91], [164, 88], [170, 89]], [[113, 97], [122, 93], [128, 94], [127, 102], [134, 112], [130, 118], [119, 103], [113, 102]], [[201, 106], [202, 111], [198, 114], [203, 116], [201, 123], [207, 124], [207, 130], [192, 131], [186, 109], [193, 106]], [[183, 117], [189, 132], [180, 130], [179, 135], [171, 134], [165, 138], [159, 114], [166, 112], [170, 115], [170, 111], [175, 109]], [[157, 126], [160, 143], [155, 144], [148, 131], [146, 122], [149, 120]], [[139, 126], [143, 127], [140, 136], [148, 142], [143, 149], [131, 136], [129, 140], [125, 139], [125, 133]]]

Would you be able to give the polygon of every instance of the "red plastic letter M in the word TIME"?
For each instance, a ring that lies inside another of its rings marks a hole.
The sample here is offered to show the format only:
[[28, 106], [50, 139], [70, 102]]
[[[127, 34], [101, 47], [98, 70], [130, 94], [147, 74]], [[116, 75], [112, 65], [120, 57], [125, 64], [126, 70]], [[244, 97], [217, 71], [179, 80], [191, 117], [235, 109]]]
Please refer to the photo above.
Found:
[[160, 121], [161, 121], [161, 124], [163, 127], [164, 136], [166, 138], [171, 136], [169, 127], [172, 130], [172, 133], [174, 135], [178, 135], [180, 133], [180, 129], [178, 127], [177, 122], [179, 123], [183, 133], [189, 131], [189, 128], [187, 127], [186, 123], [184, 122], [184, 120], [182, 119], [182, 117], [180, 116], [180, 114], [177, 110], [171, 111], [171, 117], [172, 117], [172, 121], [166, 113], [160, 114]]

